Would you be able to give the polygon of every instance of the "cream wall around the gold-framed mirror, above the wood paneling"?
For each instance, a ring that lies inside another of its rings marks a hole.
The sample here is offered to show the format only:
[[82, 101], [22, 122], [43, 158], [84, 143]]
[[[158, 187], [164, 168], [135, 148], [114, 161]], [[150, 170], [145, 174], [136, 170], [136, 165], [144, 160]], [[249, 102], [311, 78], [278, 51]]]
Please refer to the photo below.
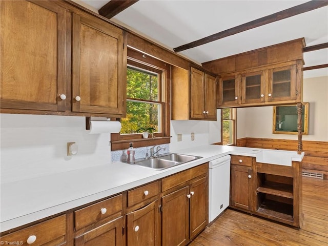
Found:
[[[310, 103], [309, 135], [303, 140], [328, 141], [328, 76], [303, 81], [303, 101]], [[237, 138], [297, 139], [297, 135], [273, 134], [273, 107], [237, 109]]]

